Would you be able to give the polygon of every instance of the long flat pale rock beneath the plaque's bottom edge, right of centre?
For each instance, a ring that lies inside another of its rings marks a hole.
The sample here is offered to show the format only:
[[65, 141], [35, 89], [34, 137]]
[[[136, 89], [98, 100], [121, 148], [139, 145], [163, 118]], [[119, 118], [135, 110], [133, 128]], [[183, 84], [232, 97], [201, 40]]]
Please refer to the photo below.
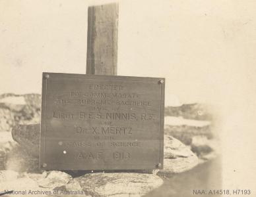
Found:
[[157, 175], [140, 173], [92, 173], [75, 178], [92, 196], [143, 195], [162, 185]]

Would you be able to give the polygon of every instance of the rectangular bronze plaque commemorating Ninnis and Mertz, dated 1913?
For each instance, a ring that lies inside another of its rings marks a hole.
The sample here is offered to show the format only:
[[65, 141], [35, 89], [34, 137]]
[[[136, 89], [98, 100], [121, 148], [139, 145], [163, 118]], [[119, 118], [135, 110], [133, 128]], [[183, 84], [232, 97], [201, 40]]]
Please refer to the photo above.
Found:
[[162, 169], [164, 83], [44, 73], [40, 167]]

